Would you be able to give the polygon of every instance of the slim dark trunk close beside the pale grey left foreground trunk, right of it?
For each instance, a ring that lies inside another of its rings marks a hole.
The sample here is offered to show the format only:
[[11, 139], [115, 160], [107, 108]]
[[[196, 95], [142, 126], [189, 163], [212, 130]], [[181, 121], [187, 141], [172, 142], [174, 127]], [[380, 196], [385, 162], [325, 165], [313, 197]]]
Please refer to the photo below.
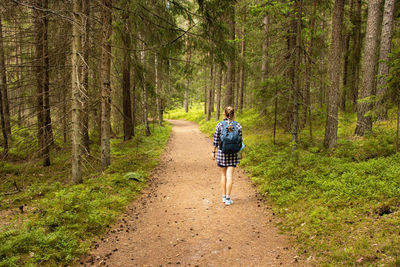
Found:
[[89, 154], [89, 16], [90, 16], [90, 2], [89, 0], [82, 1], [82, 144]]

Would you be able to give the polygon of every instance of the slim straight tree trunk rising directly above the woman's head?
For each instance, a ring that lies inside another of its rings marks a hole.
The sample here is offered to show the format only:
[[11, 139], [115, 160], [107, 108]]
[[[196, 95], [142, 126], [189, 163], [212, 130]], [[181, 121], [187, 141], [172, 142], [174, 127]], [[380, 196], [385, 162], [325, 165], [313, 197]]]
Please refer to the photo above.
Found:
[[[229, 7], [229, 39], [235, 40], [235, 6]], [[227, 88], [225, 95], [225, 106], [234, 106], [234, 84], [235, 84], [235, 45], [232, 44], [227, 70]]]

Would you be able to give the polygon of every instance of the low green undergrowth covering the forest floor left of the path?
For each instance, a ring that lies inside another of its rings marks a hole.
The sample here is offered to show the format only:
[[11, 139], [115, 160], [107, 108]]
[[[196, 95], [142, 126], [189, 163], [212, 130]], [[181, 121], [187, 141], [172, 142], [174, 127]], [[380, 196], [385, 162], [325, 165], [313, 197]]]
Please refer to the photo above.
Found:
[[125, 142], [113, 139], [109, 168], [102, 173], [98, 160], [85, 159], [84, 182], [79, 185], [66, 183], [71, 164], [65, 161], [67, 151], [54, 155], [52, 166], [44, 171], [35, 164], [18, 170], [2, 163], [9, 180], [21, 172], [27, 180], [17, 180], [24, 192], [3, 199], [8, 203], [4, 206], [17, 201], [27, 205], [29, 212], [0, 227], [0, 266], [72, 264], [146, 186], [170, 131], [167, 123], [156, 127], [149, 137], [138, 135]]

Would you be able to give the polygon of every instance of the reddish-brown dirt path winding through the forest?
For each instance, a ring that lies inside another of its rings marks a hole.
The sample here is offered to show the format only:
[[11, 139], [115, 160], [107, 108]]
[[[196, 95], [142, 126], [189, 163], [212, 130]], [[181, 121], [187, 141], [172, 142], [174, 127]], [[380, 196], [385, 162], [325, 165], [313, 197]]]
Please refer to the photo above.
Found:
[[225, 206], [210, 139], [194, 123], [171, 123], [147, 192], [80, 265], [303, 266], [248, 177], [236, 169], [234, 204]]

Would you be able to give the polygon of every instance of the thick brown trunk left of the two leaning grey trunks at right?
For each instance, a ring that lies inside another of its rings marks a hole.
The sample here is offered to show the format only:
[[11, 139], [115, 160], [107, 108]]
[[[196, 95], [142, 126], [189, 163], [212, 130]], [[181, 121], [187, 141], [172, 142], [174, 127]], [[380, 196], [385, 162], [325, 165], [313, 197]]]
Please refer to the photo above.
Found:
[[335, 0], [332, 15], [332, 41], [329, 53], [330, 86], [326, 111], [324, 146], [331, 148], [337, 143], [340, 68], [342, 54], [343, 10], [345, 0]]

